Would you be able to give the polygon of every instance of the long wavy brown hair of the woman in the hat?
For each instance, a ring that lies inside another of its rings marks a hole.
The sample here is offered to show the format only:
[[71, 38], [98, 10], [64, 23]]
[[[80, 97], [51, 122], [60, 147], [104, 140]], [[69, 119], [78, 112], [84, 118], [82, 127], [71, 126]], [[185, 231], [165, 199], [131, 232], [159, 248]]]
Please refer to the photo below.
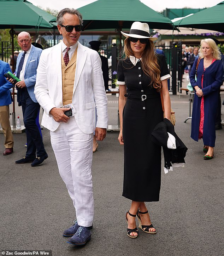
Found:
[[[124, 50], [122, 56], [125, 54], [127, 59], [130, 56], [135, 56], [134, 52], [131, 50], [130, 39], [126, 38], [124, 40]], [[157, 61], [157, 56], [155, 52], [155, 46], [153, 41], [148, 40], [145, 50], [142, 53], [141, 62], [143, 72], [151, 78], [151, 83], [149, 86], [153, 86], [157, 91], [160, 91], [162, 83], [160, 80], [160, 68]]]

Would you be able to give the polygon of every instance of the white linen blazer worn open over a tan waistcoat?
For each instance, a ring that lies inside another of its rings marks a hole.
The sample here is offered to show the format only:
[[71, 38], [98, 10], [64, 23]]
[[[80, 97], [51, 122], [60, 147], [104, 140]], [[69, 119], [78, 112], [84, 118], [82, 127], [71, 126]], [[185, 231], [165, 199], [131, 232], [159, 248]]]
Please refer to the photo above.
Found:
[[[55, 131], [60, 123], [49, 114], [54, 107], [63, 105], [61, 74], [61, 43], [42, 51], [37, 68], [34, 93], [44, 109], [41, 124]], [[95, 99], [95, 101], [94, 101]], [[72, 103], [79, 129], [92, 133], [96, 127], [107, 128], [107, 97], [98, 52], [78, 42], [76, 73]], [[97, 123], [95, 123], [95, 107]]]

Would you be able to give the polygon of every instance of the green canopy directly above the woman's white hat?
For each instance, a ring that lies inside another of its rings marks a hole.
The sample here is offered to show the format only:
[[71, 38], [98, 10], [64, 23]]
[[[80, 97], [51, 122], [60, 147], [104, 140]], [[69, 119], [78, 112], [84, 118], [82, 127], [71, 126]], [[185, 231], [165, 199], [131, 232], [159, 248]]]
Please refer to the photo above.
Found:
[[173, 29], [172, 21], [139, 0], [98, 0], [81, 8], [83, 30], [130, 28], [134, 21], [150, 28]]

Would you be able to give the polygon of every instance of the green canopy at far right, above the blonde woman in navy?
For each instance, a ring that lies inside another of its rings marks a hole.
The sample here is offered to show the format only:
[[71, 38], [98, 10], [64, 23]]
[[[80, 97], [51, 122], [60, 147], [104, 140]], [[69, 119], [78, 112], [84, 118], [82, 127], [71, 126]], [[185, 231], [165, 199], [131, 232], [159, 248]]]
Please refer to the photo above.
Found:
[[176, 27], [202, 28], [224, 32], [224, 1], [173, 24]]

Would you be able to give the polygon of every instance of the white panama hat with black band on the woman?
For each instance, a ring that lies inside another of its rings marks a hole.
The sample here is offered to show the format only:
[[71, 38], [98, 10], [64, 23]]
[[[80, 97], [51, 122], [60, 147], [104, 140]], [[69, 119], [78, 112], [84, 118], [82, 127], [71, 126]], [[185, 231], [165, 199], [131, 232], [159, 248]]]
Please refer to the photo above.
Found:
[[135, 21], [131, 25], [131, 29], [129, 34], [120, 32], [122, 35], [125, 37], [134, 37], [134, 38], [148, 38], [149, 40], [155, 41], [158, 38], [157, 37], [152, 37], [149, 34], [149, 26], [147, 23], [141, 23], [139, 21]]

